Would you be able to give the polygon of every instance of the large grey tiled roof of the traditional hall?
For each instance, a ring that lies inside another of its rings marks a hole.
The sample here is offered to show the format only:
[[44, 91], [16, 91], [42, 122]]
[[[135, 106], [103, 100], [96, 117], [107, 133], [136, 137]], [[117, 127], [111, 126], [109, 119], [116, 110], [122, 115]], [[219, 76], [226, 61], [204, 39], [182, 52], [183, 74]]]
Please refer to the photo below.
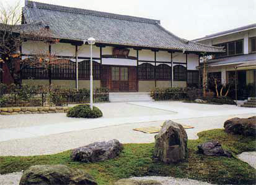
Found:
[[56, 38], [85, 40], [124, 46], [177, 49], [196, 52], [223, 52], [222, 47], [206, 46], [179, 38], [160, 25], [159, 20], [94, 10], [63, 7], [28, 1], [23, 8], [27, 24], [49, 25]]

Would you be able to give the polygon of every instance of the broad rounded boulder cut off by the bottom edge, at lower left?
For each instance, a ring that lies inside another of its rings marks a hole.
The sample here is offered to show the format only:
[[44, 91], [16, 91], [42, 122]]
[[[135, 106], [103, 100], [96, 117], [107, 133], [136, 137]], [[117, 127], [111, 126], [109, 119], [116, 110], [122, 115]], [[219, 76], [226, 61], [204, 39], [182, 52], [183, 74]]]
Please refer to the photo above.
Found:
[[19, 185], [97, 184], [89, 174], [65, 165], [36, 165], [25, 170]]

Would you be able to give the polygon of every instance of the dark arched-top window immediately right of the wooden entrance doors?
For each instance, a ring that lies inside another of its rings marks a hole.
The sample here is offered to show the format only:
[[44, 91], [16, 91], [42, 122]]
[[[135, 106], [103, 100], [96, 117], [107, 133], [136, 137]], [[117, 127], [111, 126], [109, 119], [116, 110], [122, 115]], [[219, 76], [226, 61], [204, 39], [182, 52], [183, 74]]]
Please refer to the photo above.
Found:
[[154, 80], [154, 65], [143, 63], [138, 66], [139, 80]]

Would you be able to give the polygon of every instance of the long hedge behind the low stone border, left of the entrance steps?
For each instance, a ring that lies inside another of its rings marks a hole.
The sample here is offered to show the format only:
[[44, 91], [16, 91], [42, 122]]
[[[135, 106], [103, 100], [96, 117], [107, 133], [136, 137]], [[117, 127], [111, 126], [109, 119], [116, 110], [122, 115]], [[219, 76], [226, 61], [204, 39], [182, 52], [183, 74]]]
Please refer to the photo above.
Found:
[[[90, 101], [89, 89], [63, 89], [59, 86], [45, 88], [43, 86], [27, 85], [18, 86], [0, 83], [0, 107], [5, 106], [40, 106], [54, 104], [62, 106], [68, 103], [85, 103]], [[94, 102], [108, 102], [108, 89], [94, 89]]]

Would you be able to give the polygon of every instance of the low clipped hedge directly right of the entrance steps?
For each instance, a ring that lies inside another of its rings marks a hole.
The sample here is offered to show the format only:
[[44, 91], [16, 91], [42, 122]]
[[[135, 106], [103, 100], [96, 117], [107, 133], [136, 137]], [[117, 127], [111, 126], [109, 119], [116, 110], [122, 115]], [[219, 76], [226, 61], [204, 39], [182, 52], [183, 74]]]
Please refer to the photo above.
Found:
[[151, 91], [151, 97], [156, 101], [196, 99], [203, 95], [196, 88], [156, 88]]

